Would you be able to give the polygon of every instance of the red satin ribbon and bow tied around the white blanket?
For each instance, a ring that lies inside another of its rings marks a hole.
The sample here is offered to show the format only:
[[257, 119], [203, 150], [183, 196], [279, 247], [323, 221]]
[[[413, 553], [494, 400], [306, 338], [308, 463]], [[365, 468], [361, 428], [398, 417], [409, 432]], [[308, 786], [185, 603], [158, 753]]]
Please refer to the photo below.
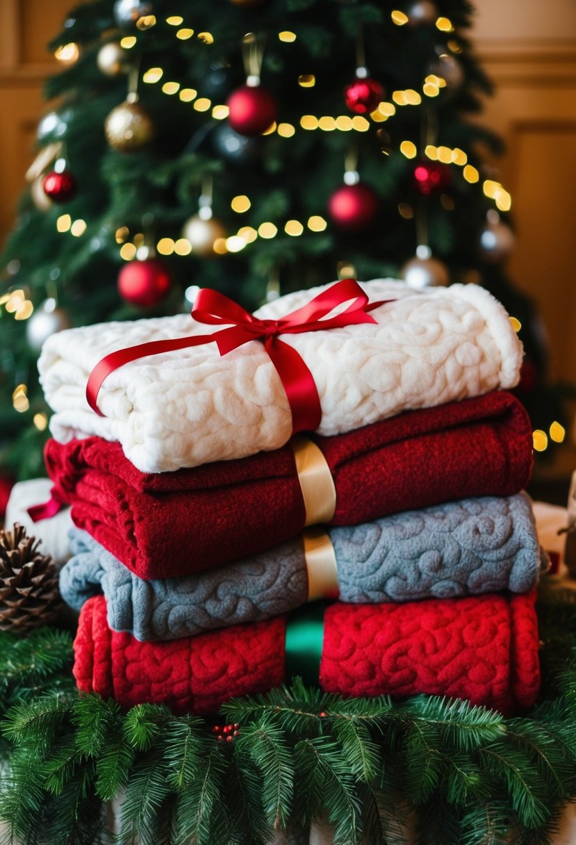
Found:
[[[329, 316], [334, 308], [345, 303], [349, 304], [340, 313]], [[376, 323], [367, 312], [382, 304], [383, 302], [368, 304], [368, 297], [358, 283], [354, 279], [344, 279], [335, 282], [311, 299], [307, 305], [297, 308], [281, 319], [258, 319], [223, 294], [203, 288], [198, 292], [192, 309], [193, 319], [198, 323], [226, 325], [226, 329], [216, 331], [213, 335], [196, 335], [172, 341], [149, 341], [111, 352], [103, 357], [90, 373], [86, 385], [86, 399], [92, 410], [103, 416], [96, 405], [102, 382], [115, 369], [137, 358], [212, 342], [217, 344], [220, 355], [226, 355], [226, 352], [231, 352], [248, 341], [262, 341], [284, 385], [292, 412], [293, 433], [315, 431], [322, 419], [322, 409], [312, 373], [298, 352], [281, 341], [278, 335], [295, 335], [304, 331]]]

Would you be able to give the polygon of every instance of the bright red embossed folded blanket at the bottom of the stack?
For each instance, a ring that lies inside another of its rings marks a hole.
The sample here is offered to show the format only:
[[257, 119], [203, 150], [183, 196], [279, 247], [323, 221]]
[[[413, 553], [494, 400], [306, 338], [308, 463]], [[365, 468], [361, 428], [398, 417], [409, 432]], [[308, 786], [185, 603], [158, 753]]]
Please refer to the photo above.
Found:
[[[534, 593], [397, 605], [335, 602], [319, 632], [319, 685], [343, 695], [448, 695], [505, 714], [529, 707], [540, 685], [534, 602]], [[176, 712], [215, 712], [232, 696], [264, 692], [285, 679], [289, 620], [140, 642], [112, 631], [106, 599], [90, 598], [74, 641], [74, 677], [79, 690], [122, 706], [149, 701]], [[309, 654], [307, 648], [302, 662]], [[296, 671], [298, 665], [296, 656]]]

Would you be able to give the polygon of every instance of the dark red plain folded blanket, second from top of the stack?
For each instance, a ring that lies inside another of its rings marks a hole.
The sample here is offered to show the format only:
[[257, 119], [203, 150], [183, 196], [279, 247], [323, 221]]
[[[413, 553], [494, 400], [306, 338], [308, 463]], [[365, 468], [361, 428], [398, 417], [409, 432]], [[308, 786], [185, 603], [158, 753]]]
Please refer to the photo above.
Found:
[[[530, 420], [504, 391], [411, 411], [331, 438], [312, 435], [336, 489], [329, 525], [453, 499], [512, 495], [532, 464]], [[294, 537], [305, 524], [289, 445], [193, 469], [139, 472], [120, 444], [46, 444], [54, 496], [79, 528], [144, 579], [208, 569]]]

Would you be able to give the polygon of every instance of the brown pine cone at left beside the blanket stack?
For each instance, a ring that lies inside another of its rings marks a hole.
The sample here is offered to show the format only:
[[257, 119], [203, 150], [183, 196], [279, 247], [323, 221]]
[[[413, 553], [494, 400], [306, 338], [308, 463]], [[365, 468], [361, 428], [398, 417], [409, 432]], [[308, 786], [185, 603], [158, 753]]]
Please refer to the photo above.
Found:
[[62, 608], [56, 565], [39, 545], [18, 522], [0, 530], [0, 630], [39, 628]]

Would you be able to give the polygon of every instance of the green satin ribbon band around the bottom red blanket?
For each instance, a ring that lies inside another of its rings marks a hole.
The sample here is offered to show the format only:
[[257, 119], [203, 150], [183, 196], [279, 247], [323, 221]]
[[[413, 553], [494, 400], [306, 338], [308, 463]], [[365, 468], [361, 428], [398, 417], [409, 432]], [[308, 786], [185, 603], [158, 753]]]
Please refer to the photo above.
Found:
[[311, 602], [290, 613], [286, 621], [285, 679], [300, 675], [318, 686], [324, 641], [325, 602]]

